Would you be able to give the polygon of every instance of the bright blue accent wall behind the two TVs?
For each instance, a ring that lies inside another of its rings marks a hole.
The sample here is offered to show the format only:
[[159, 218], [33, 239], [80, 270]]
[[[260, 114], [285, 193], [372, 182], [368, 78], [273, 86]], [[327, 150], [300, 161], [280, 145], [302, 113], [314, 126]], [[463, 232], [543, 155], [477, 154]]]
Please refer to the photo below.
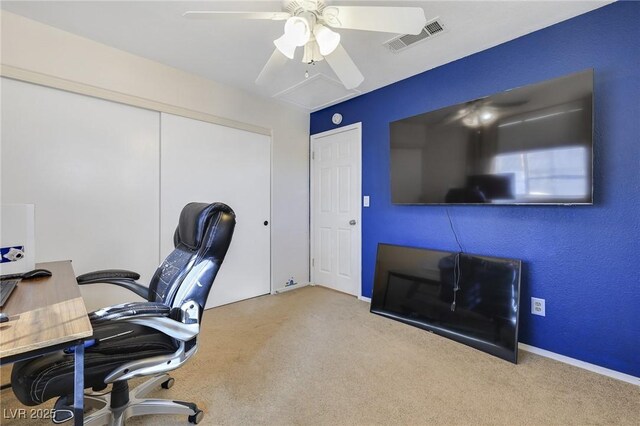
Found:
[[[389, 122], [594, 68], [593, 206], [450, 206], [465, 251], [525, 263], [520, 341], [640, 377], [640, 2], [618, 2], [311, 115], [362, 122], [362, 292], [379, 242], [457, 251], [444, 206], [390, 201]], [[546, 317], [531, 315], [531, 297]]]

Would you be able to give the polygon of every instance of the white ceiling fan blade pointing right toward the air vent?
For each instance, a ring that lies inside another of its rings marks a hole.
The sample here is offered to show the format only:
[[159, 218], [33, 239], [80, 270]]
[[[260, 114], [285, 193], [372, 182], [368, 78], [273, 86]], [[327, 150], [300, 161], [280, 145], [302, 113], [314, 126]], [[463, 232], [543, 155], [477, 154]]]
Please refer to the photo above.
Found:
[[329, 6], [322, 13], [334, 28], [420, 34], [427, 23], [420, 7]]

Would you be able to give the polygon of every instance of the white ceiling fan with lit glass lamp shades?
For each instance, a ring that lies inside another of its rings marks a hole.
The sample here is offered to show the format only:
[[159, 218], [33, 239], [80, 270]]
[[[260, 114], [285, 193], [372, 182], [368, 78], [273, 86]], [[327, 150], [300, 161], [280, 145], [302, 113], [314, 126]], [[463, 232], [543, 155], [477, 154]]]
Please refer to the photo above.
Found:
[[284, 34], [274, 40], [276, 49], [258, 75], [256, 84], [273, 80], [295, 50], [304, 47], [302, 62], [327, 60], [344, 87], [354, 89], [364, 76], [331, 30], [353, 29], [398, 34], [419, 34], [426, 24], [420, 7], [333, 6], [324, 0], [284, 0], [280, 12], [232, 12], [197, 10], [183, 14], [190, 19], [267, 19], [285, 21]]

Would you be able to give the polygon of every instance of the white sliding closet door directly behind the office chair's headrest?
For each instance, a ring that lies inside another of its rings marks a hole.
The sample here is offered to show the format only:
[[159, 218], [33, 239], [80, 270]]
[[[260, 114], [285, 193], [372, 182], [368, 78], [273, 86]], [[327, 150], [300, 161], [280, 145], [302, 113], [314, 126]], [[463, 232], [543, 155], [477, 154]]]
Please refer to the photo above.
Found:
[[221, 201], [237, 225], [207, 308], [269, 293], [271, 139], [164, 113], [160, 127], [161, 257], [185, 204]]

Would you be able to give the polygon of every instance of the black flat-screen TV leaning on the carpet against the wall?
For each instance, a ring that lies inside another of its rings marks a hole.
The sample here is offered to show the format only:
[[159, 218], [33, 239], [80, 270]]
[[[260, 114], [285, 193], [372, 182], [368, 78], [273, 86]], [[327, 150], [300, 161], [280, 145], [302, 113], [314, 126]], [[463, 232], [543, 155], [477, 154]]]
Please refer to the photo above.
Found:
[[378, 244], [371, 312], [517, 363], [520, 269], [516, 259]]

